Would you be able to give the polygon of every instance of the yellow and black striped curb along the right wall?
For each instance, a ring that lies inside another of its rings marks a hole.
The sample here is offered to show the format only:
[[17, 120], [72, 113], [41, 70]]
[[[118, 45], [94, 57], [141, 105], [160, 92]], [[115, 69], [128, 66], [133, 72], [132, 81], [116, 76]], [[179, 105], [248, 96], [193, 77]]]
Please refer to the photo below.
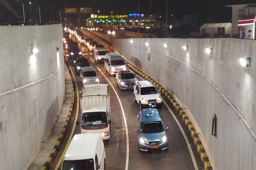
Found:
[[141, 70], [138, 70], [136, 67], [134, 67], [132, 64], [130, 64], [129, 62], [126, 61], [126, 65], [128, 67], [130, 67], [134, 72], [136, 72], [136, 74], [142, 76], [144, 79], [150, 81], [152, 84], [154, 84], [156, 86], [157, 89], [160, 90], [160, 92], [162, 94], [164, 94], [166, 96], [166, 98], [171, 102], [171, 104], [173, 105], [173, 107], [176, 109], [176, 111], [180, 114], [183, 122], [185, 123], [185, 125], [188, 127], [190, 135], [194, 141], [195, 147], [197, 152], [200, 155], [201, 161], [203, 162], [204, 165], [204, 169], [205, 170], [211, 170], [212, 165], [208, 159], [208, 156], [205, 152], [205, 149], [203, 147], [203, 144], [193, 126], [193, 124], [191, 123], [189, 117], [187, 116], [187, 114], [185, 114], [185, 112], [183, 111], [183, 109], [181, 108], [181, 106], [178, 104], [178, 102], [176, 102], [174, 100], [174, 98], [171, 96], [171, 94], [165, 90], [165, 88], [163, 88], [158, 82], [156, 82], [154, 79], [152, 79], [151, 77], [149, 77], [148, 75], [146, 75], [144, 72], [142, 72]]

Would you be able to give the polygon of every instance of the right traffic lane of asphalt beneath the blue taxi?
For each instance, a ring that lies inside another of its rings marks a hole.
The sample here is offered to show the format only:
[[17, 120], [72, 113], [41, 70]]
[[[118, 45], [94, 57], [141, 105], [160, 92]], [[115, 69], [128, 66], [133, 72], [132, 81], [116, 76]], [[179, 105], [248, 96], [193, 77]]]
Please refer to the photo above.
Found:
[[[103, 64], [99, 64], [98, 67], [100, 67], [101, 70], [104, 70]], [[119, 93], [127, 118], [131, 155], [129, 169], [194, 169], [187, 143], [185, 142], [177, 123], [164, 104], [162, 105], [162, 108], [159, 109], [159, 113], [165, 125], [170, 128], [167, 131], [170, 149], [168, 151], [152, 151], [149, 153], [140, 153], [138, 151], [137, 133], [135, 133], [134, 130], [136, 129], [139, 105], [134, 102], [132, 95], [133, 90], [120, 91], [116, 85], [115, 76], [107, 76], [111, 83], [115, 85], [115, 89], [117, 89]], [[197, 157], [199, 156], [197, 155]]]

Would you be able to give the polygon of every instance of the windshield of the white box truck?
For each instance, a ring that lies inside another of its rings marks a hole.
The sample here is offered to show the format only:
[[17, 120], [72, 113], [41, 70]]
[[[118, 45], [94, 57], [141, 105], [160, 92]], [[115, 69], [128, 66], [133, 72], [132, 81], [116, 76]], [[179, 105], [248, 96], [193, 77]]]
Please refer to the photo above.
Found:
[[82, 115], [82, 126], [107, 125], [106, 112], [88, 112]]

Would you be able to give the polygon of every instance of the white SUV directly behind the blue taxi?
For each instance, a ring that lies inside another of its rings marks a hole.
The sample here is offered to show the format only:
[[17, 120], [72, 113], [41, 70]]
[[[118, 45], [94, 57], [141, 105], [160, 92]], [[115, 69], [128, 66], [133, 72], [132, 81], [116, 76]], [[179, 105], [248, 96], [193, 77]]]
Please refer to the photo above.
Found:
[[162, 98], [156, 87], [147, 80], [137, 81], [133, 91], [134, 102], [139, 104], [139, 108], [161, 108]]

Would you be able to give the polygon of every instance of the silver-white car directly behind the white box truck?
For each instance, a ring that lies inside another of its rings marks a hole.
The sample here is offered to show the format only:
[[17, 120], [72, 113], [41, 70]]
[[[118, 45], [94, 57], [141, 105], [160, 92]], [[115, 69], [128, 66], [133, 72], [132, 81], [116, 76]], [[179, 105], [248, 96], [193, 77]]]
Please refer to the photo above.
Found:
[[82, 67], [80, 70], [81, 83], [83, 85], [87, 84], [99, 84], [98, 74], [96, 73], [94, 67]]

